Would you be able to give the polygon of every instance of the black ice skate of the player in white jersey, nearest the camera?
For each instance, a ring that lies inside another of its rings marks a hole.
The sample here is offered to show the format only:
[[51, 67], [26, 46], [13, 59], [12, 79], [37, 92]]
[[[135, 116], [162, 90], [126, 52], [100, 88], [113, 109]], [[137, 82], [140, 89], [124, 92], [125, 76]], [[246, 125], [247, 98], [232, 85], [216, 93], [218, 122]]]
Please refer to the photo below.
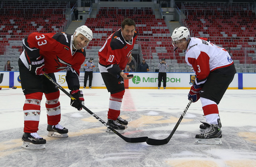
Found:
[[221, 145], [222, 131], [219, 125], [209, 124], [207, 122], [202, 123], [206, 126], [206, 129], [201, 134], [196, 135], [196, 143], [199, 144], [210, 144], [210, 145]]

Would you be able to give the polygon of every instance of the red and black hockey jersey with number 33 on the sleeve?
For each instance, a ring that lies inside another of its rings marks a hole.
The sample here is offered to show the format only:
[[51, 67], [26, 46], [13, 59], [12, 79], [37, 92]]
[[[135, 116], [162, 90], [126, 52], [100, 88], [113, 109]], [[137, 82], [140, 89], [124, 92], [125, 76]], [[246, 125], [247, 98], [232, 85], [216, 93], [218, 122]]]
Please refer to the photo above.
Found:
[[29, 68], [30, 59], [44, 57], [46, 73], [67, 69], [69, 88], [76, 86], [79, 89], [79, 70], [86, 59], [86, 51], [73, 50], [72, 40], [73, 35], [66, 33], [31, 33], [23, 40], [25, 50], [20, 59]]

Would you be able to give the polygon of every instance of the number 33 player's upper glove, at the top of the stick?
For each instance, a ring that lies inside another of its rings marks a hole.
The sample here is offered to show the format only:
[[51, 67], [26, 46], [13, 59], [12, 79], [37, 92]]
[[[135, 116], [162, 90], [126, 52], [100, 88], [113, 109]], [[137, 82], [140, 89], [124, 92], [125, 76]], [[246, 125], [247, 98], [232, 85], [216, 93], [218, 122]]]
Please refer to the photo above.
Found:
[[29, 71], [35, 73], [36, 75], [44, 74], [45, 59], [30, 59]]

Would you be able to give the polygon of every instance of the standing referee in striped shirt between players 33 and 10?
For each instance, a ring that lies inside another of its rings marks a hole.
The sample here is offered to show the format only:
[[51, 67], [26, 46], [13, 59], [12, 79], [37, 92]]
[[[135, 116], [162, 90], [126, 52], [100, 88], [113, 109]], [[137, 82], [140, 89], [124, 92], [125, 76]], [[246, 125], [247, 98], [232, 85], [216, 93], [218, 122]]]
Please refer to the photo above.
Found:
[[91, 89], [92, 80], [93, 80], [93, 69], [95, 68], [95, 65], [93, 64], [93, 58], [90, 58], [90, 60], [84, 64], [83, 68], [84, 68], [83, 89], [86, 89], [88, 76], [89, 76], [89, 89]]

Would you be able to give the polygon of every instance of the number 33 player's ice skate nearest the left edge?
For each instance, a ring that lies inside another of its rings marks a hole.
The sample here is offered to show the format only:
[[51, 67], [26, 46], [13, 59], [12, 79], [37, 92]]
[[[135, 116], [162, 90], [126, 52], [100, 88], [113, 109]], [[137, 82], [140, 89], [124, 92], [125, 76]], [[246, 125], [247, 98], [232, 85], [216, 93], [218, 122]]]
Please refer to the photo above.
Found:
[[24, 133], [22, 136], [23, 149], [28, 150], [45, 150], [46, 140], [35, 133]]

